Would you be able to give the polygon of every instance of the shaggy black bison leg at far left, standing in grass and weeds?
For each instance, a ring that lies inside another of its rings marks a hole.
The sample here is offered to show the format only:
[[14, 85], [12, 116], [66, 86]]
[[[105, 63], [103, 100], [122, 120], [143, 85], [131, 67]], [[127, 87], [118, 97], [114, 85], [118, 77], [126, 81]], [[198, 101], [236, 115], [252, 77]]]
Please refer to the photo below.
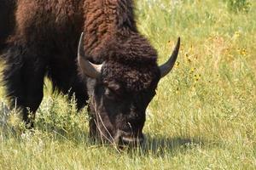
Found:
[[33, 127], [35, 112], [43, 99], [45, 62], [36, 51], [13, 46], [3, 55], [3, 81], [11, 108], [20, 109], [27, 127]]

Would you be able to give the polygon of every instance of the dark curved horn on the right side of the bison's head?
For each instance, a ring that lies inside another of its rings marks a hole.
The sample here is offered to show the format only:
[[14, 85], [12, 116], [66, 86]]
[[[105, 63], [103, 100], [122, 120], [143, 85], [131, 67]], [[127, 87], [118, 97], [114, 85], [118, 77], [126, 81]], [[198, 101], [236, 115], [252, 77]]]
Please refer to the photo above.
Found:
[[170, 59], [168, 59], [165, 64], [160, 65], [161, 77], [165, 77], [170, 71], [172, 71], [172, 67], [175, 64], [175, 61], [177, 59], [179, 46], [180, 46], [180, 37], [177, 38], [177, 44], [172, 52]]

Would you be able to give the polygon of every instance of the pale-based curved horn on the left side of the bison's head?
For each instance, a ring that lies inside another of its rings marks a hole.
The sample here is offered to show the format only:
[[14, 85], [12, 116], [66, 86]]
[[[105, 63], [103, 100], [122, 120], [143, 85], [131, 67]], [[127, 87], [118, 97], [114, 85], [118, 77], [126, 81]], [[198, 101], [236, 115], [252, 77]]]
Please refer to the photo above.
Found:
[[102, 65], [91, 63], [84, 55], [84, 32], [82, 32], [79, 40], [78, 64], [81, 71], [88, 77], [96, 78], [101, 75]]

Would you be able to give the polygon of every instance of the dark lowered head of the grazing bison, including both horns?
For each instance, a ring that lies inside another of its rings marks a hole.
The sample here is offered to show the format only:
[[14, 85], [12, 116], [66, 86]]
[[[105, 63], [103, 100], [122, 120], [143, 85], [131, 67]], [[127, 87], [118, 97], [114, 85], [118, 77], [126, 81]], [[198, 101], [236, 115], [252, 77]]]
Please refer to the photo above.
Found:
[[90, 136], [114, 144], [143, 142], [146, 108], [155, 95], [160, 78], [172, 70], [179, 46], [178, 38], [172, 56], [161, 66], [155, 60], [129, 64], [114, 59], [96, 65], [84, 55], [82, 34], [78, 65], [82, 75], [86, 76], [90, 95]]

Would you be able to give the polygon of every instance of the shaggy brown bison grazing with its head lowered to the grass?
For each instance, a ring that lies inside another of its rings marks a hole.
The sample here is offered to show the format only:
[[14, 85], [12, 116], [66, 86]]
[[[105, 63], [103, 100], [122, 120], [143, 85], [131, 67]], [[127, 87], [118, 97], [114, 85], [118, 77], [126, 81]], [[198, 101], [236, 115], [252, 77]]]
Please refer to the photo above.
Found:
[[146, 108], [179, 46], [178, 38], [170, 59], [158, 66], [156, 50], [137, 31], [132, 0], [17, 0], [3, 80], [27, 125], [49, 77], [55, 89], [75, 94], [78, 108], [90, 98], [92, 138], [141, 143]]

